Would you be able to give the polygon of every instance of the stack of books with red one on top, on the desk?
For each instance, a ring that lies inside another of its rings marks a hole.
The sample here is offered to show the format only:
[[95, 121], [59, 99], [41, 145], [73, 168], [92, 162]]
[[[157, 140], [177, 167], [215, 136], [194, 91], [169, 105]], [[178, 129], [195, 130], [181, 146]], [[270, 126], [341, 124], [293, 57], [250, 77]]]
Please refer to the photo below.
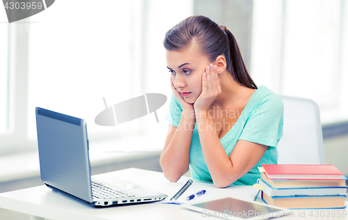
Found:
[[290, 209], [345, 208], [346, 180], [333, 165], [262, 164], [254, 186], [264, 203]]

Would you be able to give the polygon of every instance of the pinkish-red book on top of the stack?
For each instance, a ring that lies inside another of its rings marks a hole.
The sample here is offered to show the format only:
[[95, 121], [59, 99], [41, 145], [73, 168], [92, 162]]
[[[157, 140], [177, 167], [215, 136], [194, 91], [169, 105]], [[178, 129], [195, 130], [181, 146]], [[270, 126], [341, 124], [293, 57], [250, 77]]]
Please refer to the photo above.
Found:
[[327, 164], [262, 164], [269, 179], [342, 180], [342, 173]]

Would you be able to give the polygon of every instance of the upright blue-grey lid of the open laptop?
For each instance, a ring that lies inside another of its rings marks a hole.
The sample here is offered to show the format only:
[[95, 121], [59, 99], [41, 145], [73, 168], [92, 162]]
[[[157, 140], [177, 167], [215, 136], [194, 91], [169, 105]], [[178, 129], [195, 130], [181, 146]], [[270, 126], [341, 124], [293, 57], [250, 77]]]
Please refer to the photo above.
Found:
[[35, 111], [42, 182], [92, 203], [86, 121]]

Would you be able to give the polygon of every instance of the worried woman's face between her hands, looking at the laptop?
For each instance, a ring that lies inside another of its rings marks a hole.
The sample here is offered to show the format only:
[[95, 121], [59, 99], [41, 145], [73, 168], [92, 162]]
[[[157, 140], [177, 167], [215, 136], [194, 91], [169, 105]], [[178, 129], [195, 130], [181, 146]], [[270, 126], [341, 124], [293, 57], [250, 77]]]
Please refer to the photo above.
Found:
[[193, 104], [202, 93], [202, 75], [209, 62], [207, 56], [200, 55], [197, 45], [187, 49], [167, 50], [167, 68], [171, 72], [174, 87]]

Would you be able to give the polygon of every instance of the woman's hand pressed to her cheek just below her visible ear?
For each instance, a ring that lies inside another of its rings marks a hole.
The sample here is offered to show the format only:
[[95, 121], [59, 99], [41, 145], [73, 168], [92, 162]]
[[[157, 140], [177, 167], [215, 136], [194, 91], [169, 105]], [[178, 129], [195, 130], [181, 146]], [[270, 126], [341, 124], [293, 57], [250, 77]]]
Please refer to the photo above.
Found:
[[216, 65], [210, 64], [205, 68], [202, 76], [202, 93], [193, 104], [196, 110], [209, 110], [210, 106], [221, 94], [220, 78], [216, 71]]

